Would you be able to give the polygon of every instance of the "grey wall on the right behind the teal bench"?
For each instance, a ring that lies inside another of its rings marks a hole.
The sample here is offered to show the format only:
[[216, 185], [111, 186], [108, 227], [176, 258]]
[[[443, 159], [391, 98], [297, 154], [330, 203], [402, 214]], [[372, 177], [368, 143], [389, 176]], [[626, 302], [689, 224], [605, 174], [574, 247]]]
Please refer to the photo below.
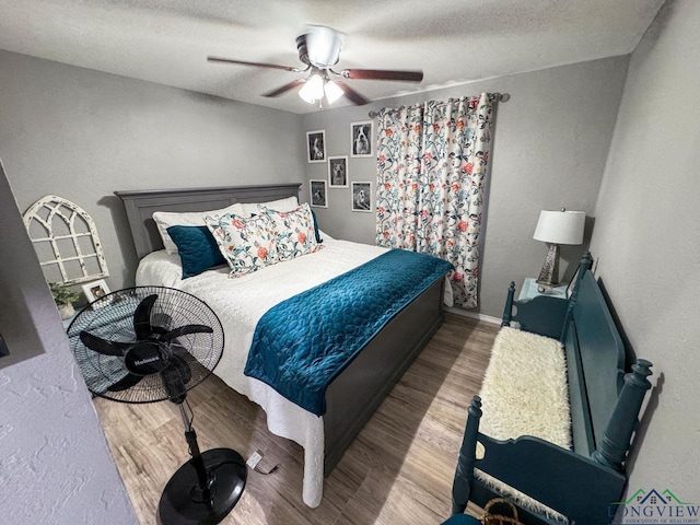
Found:
[[654, 363], [630, 491], [700, 502], [700, 2], [669, 2], [632, 55], [592, 250], [637, 355]]

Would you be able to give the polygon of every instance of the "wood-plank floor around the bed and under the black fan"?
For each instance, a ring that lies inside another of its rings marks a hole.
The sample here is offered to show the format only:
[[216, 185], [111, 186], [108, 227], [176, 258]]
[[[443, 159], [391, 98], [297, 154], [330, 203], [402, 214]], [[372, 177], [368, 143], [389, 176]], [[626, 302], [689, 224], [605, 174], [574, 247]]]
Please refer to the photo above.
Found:
[[[467, 405], [481, 385], [497, 325], [454, 314], [433, 336], [325, 480], [324, 500], [301, 498], [302, 448], [270, 434], [262, 409], [214, 375], [188, 394], [202, 451], [264, 452], [224, 520], [236, 525], [429, 525], [450, 516], [452, 478]], [[95, 399], [139, 520], [155, 524], [163, 487], [189, 456], [178, 409], [166, 401]], [[472, 511], [475, 512], [475, 511]], [[164, 524], [167, 525], [167, 524]]]

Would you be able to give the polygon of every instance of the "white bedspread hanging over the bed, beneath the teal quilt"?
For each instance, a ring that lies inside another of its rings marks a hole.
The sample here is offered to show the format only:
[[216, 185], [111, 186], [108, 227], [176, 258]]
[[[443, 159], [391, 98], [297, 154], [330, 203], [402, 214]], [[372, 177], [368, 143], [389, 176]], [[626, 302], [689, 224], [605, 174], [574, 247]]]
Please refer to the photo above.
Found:
[[219, 316], [225, 347], [214, 373], [236, 392], [267, 412], [270, 432], [295, 441], [304, 448], [303, 500], [320, 504], [324, 480], [323, 419], [294, 405], [265, 383], [243, 374], [255, 327], [270, 307], [320, 284], [386, 252], [386, 248], [324, 238], [318, 252], [229, 279], [229, 268], [180, 279], [178, 255], [165, 250], [145, 256], [137, 270], [137, 285], [163, 285], [189, 292]]

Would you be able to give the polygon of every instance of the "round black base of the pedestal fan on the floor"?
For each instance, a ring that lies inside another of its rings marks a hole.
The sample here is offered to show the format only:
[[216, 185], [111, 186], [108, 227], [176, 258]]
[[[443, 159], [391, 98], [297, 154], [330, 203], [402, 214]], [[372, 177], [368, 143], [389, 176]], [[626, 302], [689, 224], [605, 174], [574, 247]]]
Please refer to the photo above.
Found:
[[245, 487], [245, 460], [231, 448], [202, 452], [207, 472], [214, 476], [211, 500], [197, 501], [201, 490], [191, 462], [184, 464], [163, 489], [158, 512], [163, 525], [220, 523], [236, 505]]

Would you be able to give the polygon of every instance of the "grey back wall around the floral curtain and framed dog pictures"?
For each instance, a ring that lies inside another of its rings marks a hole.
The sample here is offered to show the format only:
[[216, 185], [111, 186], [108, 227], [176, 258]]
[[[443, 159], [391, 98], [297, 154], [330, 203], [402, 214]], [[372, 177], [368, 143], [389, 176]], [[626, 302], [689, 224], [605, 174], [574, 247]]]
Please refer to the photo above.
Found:
[[[481, 304], [478, 312], [500, 317], [511, 280], [539, 273], [547, 248], [533, 241], [544, 209], [565, 207], [592, 215], [603, 177], [629, 57], [563, 66], [503, 77], [369, 106], [304, 116], [304, 131], [326, 130], [327, 154], [350, 154], [350, 122], [368, 110], [444, 100], [482, 91], [510, 93], [498, 108], [493, 133], [486, 235], [481, 249]], [[354, 85], [354, 84], [353, 84]], [[357, 83], [361, 90], [360, 82]], [[349, 159], [351, 180], [376, 178], [372, 159]], [[326, 164], [306, 164], [307, 178], [328, 178]], [[328, 189], [328, 209], [318, 221], [340, 238], [374, 243], [374, 215], [350, 211], [350, 189]], [[562, 277], [571, 277], [582, 246], [562, 248]]]

